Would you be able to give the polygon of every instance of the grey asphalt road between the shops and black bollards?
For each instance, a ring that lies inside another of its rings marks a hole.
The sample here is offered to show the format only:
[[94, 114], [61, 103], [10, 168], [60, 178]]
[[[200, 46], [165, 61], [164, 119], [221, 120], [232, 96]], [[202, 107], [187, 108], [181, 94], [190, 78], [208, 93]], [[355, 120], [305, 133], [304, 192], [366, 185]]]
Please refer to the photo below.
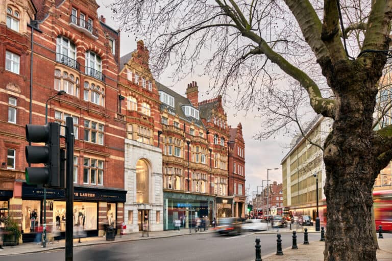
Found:
[[[282, 234], [282, 249], [290, 247], [291, 234]], [[139, 240], [74, 248], [74, 261], [250, 261], [255, 259], [255, 239], [260, 238], [261, 255], [276, 252], [276, 234], [244, 232], [240, 236], [215, 236], [213, 233]], [[301, 248], [303, 234], [297, 238]], [[309, 242], [320, 240], [319, 233], [309, 233]], [[7, 256], [9, 261], [64, 260], [65, 250]], [[1, 258], [0, 258], [1, 259]]]

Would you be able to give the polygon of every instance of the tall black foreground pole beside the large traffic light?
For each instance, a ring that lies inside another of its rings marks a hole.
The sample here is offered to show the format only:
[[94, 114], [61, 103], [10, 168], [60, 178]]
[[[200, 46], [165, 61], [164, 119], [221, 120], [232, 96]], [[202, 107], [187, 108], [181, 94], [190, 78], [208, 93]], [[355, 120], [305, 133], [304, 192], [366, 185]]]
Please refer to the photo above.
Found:
[[65, 261], [72, 261], [74, 258], [74, 120], [72, 117], [66, 118], [66, 203], [65, 203]]

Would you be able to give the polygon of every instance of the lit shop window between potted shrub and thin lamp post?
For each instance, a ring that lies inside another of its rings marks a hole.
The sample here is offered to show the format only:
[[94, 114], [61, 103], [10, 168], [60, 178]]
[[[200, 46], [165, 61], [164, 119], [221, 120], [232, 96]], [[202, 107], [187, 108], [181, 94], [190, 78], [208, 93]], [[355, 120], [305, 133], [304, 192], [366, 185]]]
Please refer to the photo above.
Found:
[[22, 202], [22, 230], [24, 233], [36, 231], [40, 224], [41, 201], [23, 200]]

